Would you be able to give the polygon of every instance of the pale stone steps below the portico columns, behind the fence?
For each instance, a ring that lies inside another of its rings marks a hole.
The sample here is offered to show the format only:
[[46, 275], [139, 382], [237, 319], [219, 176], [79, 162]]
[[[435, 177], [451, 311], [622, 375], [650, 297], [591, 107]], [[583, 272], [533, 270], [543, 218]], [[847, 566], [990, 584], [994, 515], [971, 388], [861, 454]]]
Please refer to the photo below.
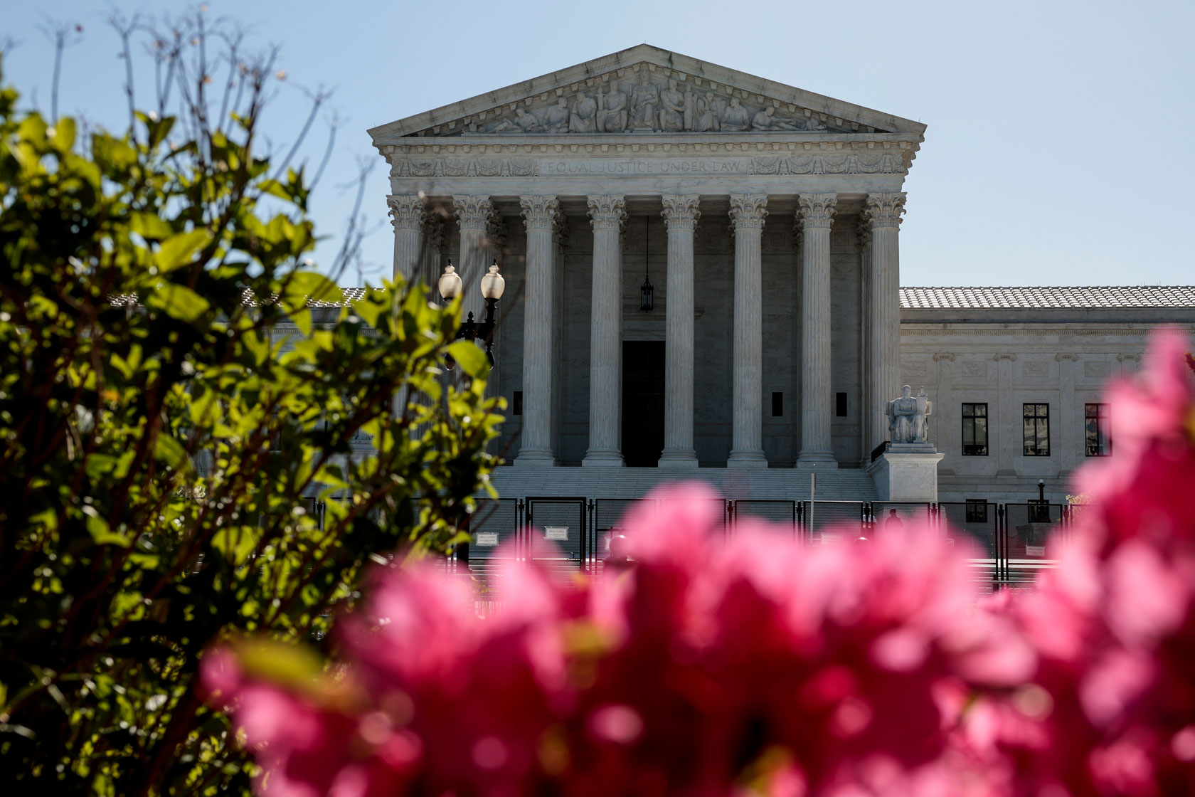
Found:
[[[733, 499], [808, 501], [809, 476], [809, 471], [796, 468], [500, 467], [490, 482], [503, 498], [642, 498], [657, 484], [697, 479]], [[875, 501], [876, 488], [865, 471], [819, 471], [816, 498]]]

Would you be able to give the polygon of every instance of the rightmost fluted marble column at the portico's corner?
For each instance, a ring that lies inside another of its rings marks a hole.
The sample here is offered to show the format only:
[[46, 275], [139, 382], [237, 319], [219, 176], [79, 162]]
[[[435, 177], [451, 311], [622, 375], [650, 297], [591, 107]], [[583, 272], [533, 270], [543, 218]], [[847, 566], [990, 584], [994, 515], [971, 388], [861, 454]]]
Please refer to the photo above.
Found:
[[905, 192], [869, 194], [863, 215], [871, 227], [871, 274], [868, 278], [871, 367], [868, 394], [871, 437], [866, 450], [888, 440], [883, 403], [900, 394], [900, 216]]

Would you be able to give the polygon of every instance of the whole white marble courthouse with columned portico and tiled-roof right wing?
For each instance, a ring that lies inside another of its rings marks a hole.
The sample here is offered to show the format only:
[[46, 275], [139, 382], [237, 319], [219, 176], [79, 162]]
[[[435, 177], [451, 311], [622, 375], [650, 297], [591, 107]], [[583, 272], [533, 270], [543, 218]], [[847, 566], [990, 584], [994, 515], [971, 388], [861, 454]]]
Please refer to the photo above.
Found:
[[1065, 493], [1108, 453], [1104, 380], [1191, 329], [1195, 289], [902, 290], [924, 131], [646, 44], [372, 129], [396, 272], [451, 260], [478, 318], [485, 266], [505, 278], [500, 493], [797, 498], [816, 472], [866, 499], [905, 384], [944, 496]]

